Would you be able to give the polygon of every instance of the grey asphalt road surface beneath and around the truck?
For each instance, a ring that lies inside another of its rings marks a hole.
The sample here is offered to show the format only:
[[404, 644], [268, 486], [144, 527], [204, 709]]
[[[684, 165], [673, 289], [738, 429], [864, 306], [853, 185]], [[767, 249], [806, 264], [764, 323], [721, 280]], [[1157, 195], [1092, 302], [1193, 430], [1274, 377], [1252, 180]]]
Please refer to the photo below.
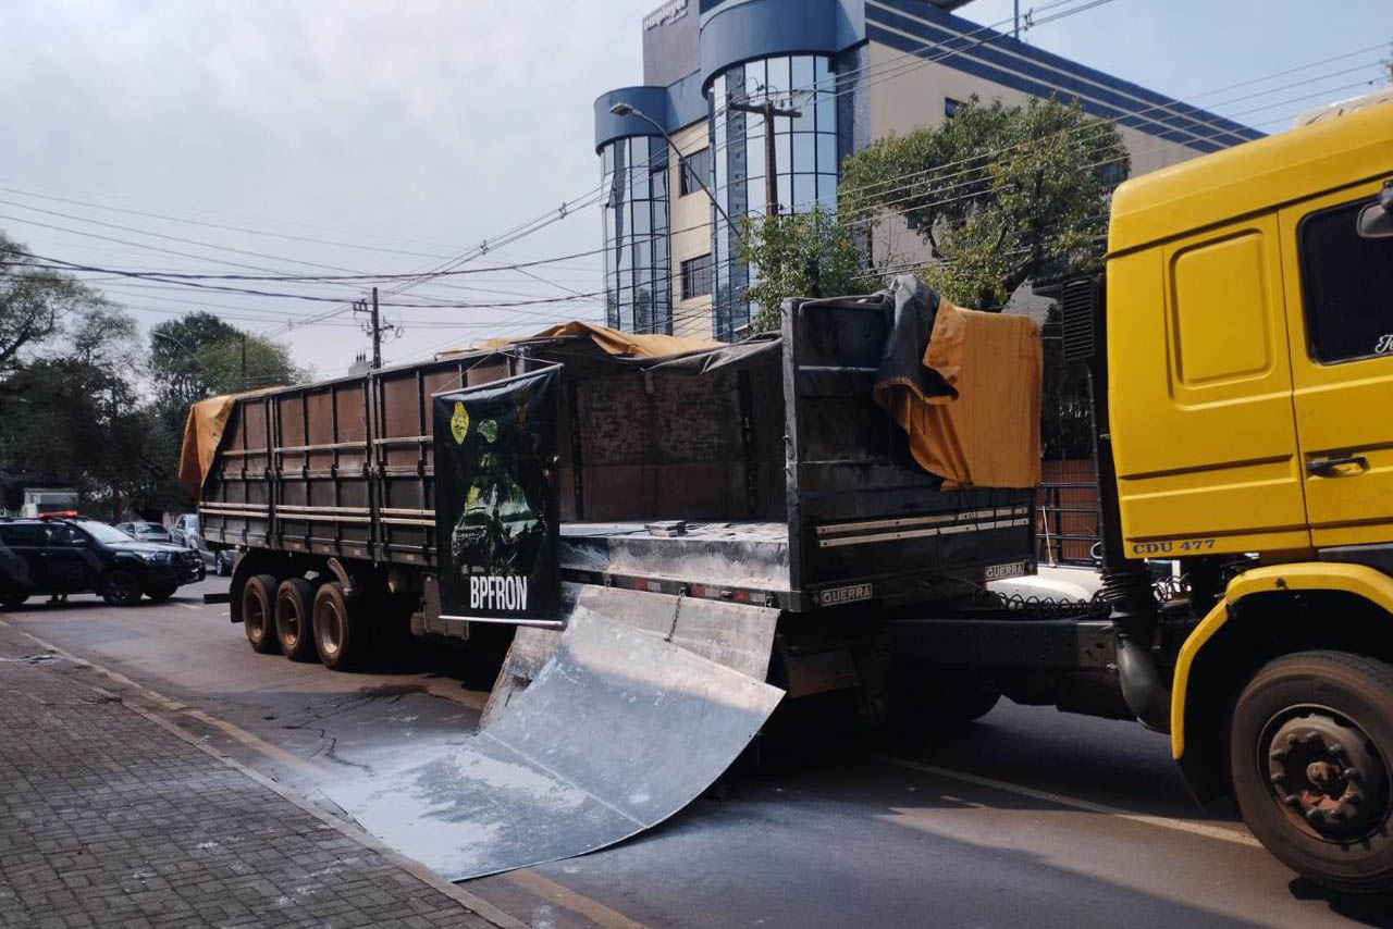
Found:
[[[311, 797], [474, 730], [488, 682], [456, 656], [332, 674], [255, 655], [202, 603], [226, 584], [0, 621]], [[468, 889], [538, 929], [1393, 926], [1393, 900], [1328, 896], [1231, 811], [1202, 818], [1165, 738], [1011, 705], [947, 740], [745, 762], [645, 836]]]

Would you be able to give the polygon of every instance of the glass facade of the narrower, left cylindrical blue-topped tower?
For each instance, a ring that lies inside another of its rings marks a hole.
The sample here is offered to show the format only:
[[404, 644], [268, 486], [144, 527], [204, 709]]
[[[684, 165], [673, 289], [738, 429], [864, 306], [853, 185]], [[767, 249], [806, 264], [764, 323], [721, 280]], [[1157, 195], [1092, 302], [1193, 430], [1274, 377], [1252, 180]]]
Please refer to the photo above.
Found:
[[673, 331], [667, 251], [667, 143], [616, 139], [600, 152], [605, 322], [631, 333]]

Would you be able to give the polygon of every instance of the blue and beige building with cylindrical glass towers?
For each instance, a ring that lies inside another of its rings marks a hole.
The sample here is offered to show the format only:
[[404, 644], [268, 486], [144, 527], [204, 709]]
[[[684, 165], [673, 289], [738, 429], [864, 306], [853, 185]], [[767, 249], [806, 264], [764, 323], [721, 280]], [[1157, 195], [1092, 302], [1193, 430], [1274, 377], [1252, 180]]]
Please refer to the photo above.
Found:
[[[740, 260], [731, 226], [765, 214], [768, 159], [763, 117], [733, 100], [798, 111], [775, 117], [780, 212], [834, 209], [847, 155], [951, 118], [972, 96], [1077, 99], [1117, 123], [1133, 173], [1259, 135], [950, 13], [964, 3], [669, 0], [649, 14], [644, 84], [595, 102], [609, 325], [730, 340], [749, 322], [744, 288], [758, 269]], [[616, 114], [616, 104], [630, 111]], [[926, 258], [900, 231], [889, 224], [880, 255]]]

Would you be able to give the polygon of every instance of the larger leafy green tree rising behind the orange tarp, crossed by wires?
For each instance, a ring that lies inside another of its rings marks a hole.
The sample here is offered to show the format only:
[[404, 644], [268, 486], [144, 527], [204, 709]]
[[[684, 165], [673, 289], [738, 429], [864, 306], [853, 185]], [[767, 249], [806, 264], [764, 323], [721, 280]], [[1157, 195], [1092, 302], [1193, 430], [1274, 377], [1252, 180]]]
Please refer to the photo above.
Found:
[[931, 248], [925, 279], [988, 309], [1029, 280], [1096, 265], [1107, 202], [1128, 167], [1117, 128], [1077, 102], [974, 99], [942, 125], [848, 157], [841, 209], [872, 227], [903, 214]]

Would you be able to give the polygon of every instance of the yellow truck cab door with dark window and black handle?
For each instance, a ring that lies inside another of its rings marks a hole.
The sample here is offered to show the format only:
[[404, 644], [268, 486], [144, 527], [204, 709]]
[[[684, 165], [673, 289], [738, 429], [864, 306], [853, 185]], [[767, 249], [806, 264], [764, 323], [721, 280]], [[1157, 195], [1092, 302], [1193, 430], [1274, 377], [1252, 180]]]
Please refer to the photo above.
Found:
[[1282, 210], [1291, 379], [1311, 540], [1393, 542], [1393, 238], [1364, 238], [1383, 181]]

